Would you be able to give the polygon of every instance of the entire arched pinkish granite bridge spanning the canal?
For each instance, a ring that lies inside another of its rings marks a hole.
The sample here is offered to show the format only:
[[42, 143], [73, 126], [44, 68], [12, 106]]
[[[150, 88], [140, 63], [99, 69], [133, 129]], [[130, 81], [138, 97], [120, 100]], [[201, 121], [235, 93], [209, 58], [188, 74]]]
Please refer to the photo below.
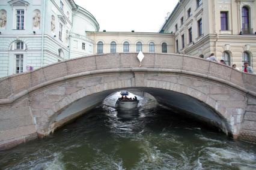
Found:
[[121, 89], [256, 141], [256, 75], [180, 54], [99, 54], [0, 80], [0, 148], [52, 133]]

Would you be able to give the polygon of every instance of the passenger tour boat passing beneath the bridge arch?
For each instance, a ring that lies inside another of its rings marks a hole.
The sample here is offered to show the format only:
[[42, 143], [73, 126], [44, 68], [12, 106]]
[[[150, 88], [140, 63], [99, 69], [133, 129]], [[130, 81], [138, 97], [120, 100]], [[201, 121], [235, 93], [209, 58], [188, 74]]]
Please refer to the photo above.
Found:
[[127, 91], [121, 91], [120, 95], [121, 98], [118, 98], [117, 102], [115, 102], [115, 107], [120, 110], [130, 110], [138, 108], [139, 100], [136, 98], [127, 98], [129, 95], [129, 92]]

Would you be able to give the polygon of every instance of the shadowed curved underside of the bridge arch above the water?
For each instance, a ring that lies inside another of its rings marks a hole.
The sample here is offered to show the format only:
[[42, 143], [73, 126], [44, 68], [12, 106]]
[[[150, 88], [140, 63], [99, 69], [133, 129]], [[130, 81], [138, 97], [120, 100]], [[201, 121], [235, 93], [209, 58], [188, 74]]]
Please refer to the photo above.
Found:
[[118, 92], [119, 90], [130, 90], [132, 92], [141, 91], [141, 93], [149, 93], [160, 104], [178, 109], [183, 113], [194, 117], [195, 119], [206, 122], [207, 125], [215, 126], [216, 128], [221, 129], [223, 132], [231, 134], [230, 127], [228, 126], [228, 123], [224, 117], [222, 117], [218, 112], [214, 111], [213, 108], [210, 108], [203, 102], [198, 101], [198, 99], [170, 90], [148, 87], [107, 90], [86, 96], [85, 98], [79, 99], [65, 110], [61, 111], [61, 113], [59, 113], [58, 116], [56, 116], [54, 119], [52, 119], [52, 122], [50, 122], [52, 125], [47, 126], [52, 127], [50, 131], [53, 131], [59, 126], [68, 123], [70, 120], [76, 119], [76, 117], [80, 116], [81, 114], [87, 113], [87, 111], [90, 111], [97, 105], [102, 104], [103, 100], [107, 96], [114, 92]]

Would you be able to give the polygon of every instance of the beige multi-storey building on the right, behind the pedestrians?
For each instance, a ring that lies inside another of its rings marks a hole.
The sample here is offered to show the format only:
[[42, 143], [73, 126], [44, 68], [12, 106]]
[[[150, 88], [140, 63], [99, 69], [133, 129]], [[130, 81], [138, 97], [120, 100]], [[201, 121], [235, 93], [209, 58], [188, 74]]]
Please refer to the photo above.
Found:
[[[160, 32], [173, 33], [175, 53], [208, 57], [242, 68], [256, 61], [256, 1], [180, 0]], [[254, 67], [254, 71], [255, 67]]]

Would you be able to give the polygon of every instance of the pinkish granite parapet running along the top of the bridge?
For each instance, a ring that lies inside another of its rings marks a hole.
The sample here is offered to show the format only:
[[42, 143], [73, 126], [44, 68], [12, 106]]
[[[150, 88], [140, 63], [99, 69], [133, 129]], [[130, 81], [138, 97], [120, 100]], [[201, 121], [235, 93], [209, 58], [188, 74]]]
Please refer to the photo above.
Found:
[[[73, 74], [81, 74], [103, 69], [127, 69], [139, 68], [139, 60], [136, 58], [138, 53], [109, 53], [97, 54], [87, 57], [65, 60], [35, 69], [34, 71], [15, 74], [0, 80], [0, 104], [10, 102], [10, 99], [25, 95], [39, 86], [47, 86], [51, 82], [65, 80]], [[168, 53], [144, 53], [142, 67], [136, 69], [142, 71], [160, 70], [165, 72], [174, 72], [180, 74], [189, 74], [204, 78], [223, 81], [225, 84], [231, 84], [237, 89], [243, 89], [246, 93], [256, 93], [256, 75], [247, 74], [230, 66], [222, 65], [216, 62], [210, 62], [199, 57], [191, 57], [181, 54]], [[145, 69], [144, 69], [145, 70]], [[6, 99], [6, 101], [5, 101]]]

